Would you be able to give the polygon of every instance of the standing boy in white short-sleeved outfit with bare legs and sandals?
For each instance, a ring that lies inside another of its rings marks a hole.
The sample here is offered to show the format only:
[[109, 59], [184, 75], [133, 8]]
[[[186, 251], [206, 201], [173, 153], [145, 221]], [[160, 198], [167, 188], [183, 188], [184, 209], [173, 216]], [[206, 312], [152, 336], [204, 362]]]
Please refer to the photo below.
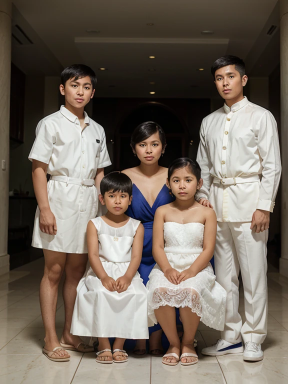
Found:
[[[40, 306], [45, 328], [43, 353], [53, 361], [67, 361], [64, 348], [92, 351], [70, 334], [76, 287], [87, 263], [86, 226], [96, 216], [104, 167], [111, 164], [101, 125], [84, 106], [93, 97], [96, 77], [86, 65], [75, 64], [61, 73], [65, 105], [37, 125], [29, 154], [38, 207], [32, 246], [42, 248], [44, 275]], [[46, 173], [50, 179], [47, 183]], [[60, 342], [55, 330], [58, 284], [65, 271], [65, 323]]]

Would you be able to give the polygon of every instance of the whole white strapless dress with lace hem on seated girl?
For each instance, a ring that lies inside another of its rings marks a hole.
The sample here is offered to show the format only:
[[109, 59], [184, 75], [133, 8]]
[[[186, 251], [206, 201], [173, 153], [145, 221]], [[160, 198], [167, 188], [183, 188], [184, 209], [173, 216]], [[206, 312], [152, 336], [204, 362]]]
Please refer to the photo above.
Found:
[[[187, 269], [203, 250], [204, 225], [199, 222], [164, 223], [164, 251], [172, 268]], [[214, 329], [224, 327], [226, 291], [215, 281], [210, 263], [196, 276], [172, 284], [156, 264], [149, 274], [148, 316], [157, 323], [154, 309], [162, 305], [188, 306], [200, 320]]]

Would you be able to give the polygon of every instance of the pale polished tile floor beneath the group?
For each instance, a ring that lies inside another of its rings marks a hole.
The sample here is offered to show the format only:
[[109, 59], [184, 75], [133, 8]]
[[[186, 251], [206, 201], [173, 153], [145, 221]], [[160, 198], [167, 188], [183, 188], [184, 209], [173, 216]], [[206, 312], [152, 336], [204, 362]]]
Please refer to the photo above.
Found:
[[[193, 366], [166, 366], [161, 358], [129, 356], [124, 364], [101, 365], [94, 353], [71, 352], [69, 362], [54, 363], [42, 353], [43, 325], [38, 287], [43, 259], [0, 276], [0, 383], [1, 384], [286, 384], [288, 382], [288, 279], [270, 268], [268, 273], [268, 336], [262, 345], [264, 359], [243, 362], [241, 355], [199, 355]], [[240, 293], [243, 313], [243, 294]], [[63, 324], [59, 295], [56, 328]], [[199, 350], [219, 338], [219, 332], [199, 325]]]

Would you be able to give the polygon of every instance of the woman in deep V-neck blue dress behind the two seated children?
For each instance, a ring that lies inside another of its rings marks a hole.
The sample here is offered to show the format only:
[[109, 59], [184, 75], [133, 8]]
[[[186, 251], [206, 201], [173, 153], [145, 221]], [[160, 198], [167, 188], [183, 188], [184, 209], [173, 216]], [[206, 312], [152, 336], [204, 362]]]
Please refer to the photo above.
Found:
[[[166, 186], [167, 170], [158, 164], [163, 155], [166, 139], [162, 128], [153, 121], [143, 122], [132, 133], [130, 143], [133, 153], [140, 164], [133, 168], [124, 169], [133, 182], [132, 202], [126, 214], [140, 220], [144, 226], [144, 242], [139, 273], [146, 285], [148, 275], [155, 265], [152, 256], [152, 228], [155, 210], [160, 205], [168, 204], [174, 197]], [[162, 330], [159, 324], [149, 327], [149, 351], [151, 354], [161, 354]], [[146, 340], [137, 340], [134, 352], [146, 352]]]

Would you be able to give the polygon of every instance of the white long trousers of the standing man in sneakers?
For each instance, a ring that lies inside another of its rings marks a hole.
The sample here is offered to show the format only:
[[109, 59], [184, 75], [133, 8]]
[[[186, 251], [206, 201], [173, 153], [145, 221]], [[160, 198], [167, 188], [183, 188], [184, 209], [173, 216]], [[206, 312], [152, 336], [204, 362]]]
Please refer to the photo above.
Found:
[[[268, 230], [254, 233], [250, 222], [217, 222], [214, 251], [216, 280], [227, 292], [221, 338], [262, 343], [267, 334]], [[244, 287], [245, 322], [239, 306], [239, 269]]]

